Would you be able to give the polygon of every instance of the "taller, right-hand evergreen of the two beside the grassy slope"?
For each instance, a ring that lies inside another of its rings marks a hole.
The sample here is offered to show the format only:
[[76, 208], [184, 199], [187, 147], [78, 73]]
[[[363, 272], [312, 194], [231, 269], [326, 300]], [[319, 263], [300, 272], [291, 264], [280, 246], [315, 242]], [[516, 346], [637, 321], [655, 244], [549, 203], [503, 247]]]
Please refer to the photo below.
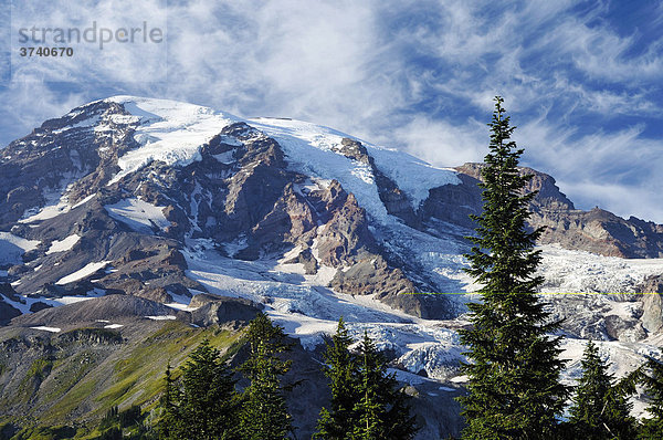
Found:
[[240, 368], [251, 380], [242, 395], [242, 439], [285, 439], [293, 428], [281, 377], [290, 370], [292, 362], [280, 357], [290, 349], [283, 327], [273, 325], [267, 315], [259, 313], [249, 325], [248, 339], [249, 358]]

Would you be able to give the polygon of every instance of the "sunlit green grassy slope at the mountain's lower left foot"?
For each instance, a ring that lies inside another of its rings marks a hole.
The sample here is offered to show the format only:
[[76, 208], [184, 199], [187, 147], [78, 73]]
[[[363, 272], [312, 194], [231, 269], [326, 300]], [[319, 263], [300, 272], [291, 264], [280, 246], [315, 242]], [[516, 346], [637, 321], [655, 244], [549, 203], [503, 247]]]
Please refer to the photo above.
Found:
[[[92, 423], [80, 427], [76, 439], [92, 440], [102, 434], [108, 436], [110, 431], [104, 433], [94, 420], [101, 420], [110, 409], [118, 407], [119, 413], [123, 413], [130, 407], [141, 408], [143, 413], [148, 415], [158, 407], [162, 381], [156, 371], [161, 370], [169, 359], [179, 365], [206, 338], [211, 346], [222, 350], [224, 358], [241, 347], [239, 332], [215, 326], [192, 328], [179, 322], [165, 322], [154, 333], [131, 343], [119, 337], [123, 341], [122, 349], [105, 348], [109, 344], [117, 344], [118, 333], [103, 328], [92, 332], [81, 328], [67, 332], [65, 338], [62, 336], [54, 337], [54, 344], [60, 348], [57, 359], [41, 357], [34, 360], [18, 384], [19, 392], [3, 396], [3, 399], [11, 398], [1, 404], [6, 408], [34, 399], [32, 409], [24, 415], [0, 413], [0, 423], [3, 423], [0, 429], [4, 427], [4, 431], [9, 432], [13, 430], [12, 426], [21, 427], [18, 439], [43, 436], [53, 439], [74, 438], [72, 431], [57, 437], [64, 431], [52, 428], [55, 423], [71, 423], [72, 420]], [[76, 344], [81, 337], [93, 337], [98, 343], [82, 352], [69, 350], [69, 344]], [[151, 419], [145, 421], [147, 425], [152, 422]], [[44, 423], [49, 427], [43, 427]], [[143, 422], [139, 425], [141, 427]], [[138, 428], [124, 427], [122, 430], [124, 438], [130, 432], [135, 431], [131, 436], [138, 436], [139, 432]], [[11, 437], [0, 434], [0, 439], [4, 438]]]

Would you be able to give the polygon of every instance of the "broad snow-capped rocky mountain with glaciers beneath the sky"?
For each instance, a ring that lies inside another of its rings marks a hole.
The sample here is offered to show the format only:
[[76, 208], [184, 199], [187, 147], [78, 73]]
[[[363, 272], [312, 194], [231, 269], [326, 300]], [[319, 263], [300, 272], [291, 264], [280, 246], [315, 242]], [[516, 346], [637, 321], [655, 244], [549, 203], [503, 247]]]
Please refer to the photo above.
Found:
[[[0, 150], [0, 323], [57, 333], [80, 323], [52, 306], [119, 293], [149, 300], [145, 316], [206, 325], [191, 297], [209, 293], [263, 304], [312, 350], [343, 315], [401, 379], [456, 391], [480, 167], [292, 119], [90, 103]], [[663, 292], [663, 226], [577, 210], [550, 176], [524, 172], [539, 191], [532, 226], [547, 227], [544, 293], [588, 293], [547, 297], [567, 317], [568, 377], [587, 338], [620, 374], [660, 356], [661, 296], [627, 293]]]

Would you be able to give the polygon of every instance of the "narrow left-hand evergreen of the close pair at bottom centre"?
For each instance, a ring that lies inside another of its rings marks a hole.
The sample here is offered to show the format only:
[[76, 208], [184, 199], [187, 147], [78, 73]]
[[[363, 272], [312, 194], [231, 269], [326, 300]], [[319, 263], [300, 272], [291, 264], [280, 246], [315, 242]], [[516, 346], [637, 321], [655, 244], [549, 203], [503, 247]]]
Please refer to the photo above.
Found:
[[349, 350], [352, 338], [348, 335], [343, 317], [338, 319], [336, 334], [327, 342], [324, 373], [332, 388], [330, 409], [323, 408], [314, 438], [344, 440], [356, 425], [355, 404], [359, 400], [358, 366]]

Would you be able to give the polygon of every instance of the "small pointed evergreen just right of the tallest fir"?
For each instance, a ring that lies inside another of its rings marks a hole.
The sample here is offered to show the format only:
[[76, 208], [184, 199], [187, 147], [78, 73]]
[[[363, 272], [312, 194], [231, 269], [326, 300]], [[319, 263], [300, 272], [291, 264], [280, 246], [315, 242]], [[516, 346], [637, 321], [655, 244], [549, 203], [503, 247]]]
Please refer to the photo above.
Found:
[[569, 410], [575, 436], [588, 440], [635, 438], [635, 420], [630, 416], [632, 405], [625, 389], [608, 374], [608, 366], [591, 341], [585, 348], [581, 366], [582, 377]]

